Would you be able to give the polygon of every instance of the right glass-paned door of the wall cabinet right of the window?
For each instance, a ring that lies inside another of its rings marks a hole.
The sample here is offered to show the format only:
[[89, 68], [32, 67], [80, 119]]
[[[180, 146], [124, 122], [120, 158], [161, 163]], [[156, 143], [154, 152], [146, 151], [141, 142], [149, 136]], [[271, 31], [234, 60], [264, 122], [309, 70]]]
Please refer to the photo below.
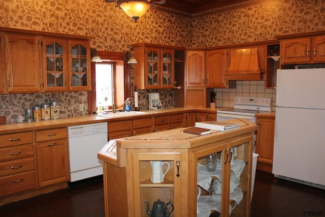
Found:
[[161, 50], [161, 87], [167, 88], [173, 87], [173, 61], [174, 61], [173, 50]]

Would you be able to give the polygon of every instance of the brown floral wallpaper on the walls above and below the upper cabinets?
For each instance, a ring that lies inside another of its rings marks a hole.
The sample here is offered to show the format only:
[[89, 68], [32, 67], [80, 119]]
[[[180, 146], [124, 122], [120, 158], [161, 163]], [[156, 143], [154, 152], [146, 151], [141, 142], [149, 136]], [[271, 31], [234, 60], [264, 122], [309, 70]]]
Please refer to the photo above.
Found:
[[[157, 6], [149, 9], [137, 23], [115, 8], [115, 4], [104, 0], [0, 0], [0, 5], [1, 26], [91, 35], [95, 37], [91, 47], [117, 52], [140, 42], [205, 47], [325, 29], [324, 0], [248, 0], [193, 16]], [[157, 91], [164, 96], [167, 106], [173, 103], [173, 90]], [[148, 92], [139, 92], [139, 104], [143, 108], [147, 102], [142, 100], [147, 99]], [[44, 101], [60, 99], [63, 117], [87, 114], [87, 109], [79, 112], [79, 106], [69, 104], [78, 101], [87, 108], [87, 92], [64, 92], [0, 95], [0, 116], [14, 121], [14, 116], [39, 96]]]

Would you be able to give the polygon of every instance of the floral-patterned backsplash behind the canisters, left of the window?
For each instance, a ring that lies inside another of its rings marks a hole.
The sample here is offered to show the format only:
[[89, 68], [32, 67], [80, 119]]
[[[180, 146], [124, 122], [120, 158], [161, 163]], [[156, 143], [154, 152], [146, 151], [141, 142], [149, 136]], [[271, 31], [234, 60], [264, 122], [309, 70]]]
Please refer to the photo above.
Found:
[[7, 122], [15, 122], [18, 115], [25, 114], [25, 109], [50, 102], [59, 102], [60, 117], [88, 114], [88, 93], [79, 91], [0, 95], [0, 116], [6, 116]]

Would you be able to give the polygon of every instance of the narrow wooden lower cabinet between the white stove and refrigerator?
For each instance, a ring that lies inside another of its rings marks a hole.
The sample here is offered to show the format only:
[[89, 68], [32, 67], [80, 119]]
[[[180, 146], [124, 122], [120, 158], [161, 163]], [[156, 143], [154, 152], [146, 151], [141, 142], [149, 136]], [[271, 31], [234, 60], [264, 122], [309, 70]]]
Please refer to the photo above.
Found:
[[273, 143], [274, 143], [274, 117], [257, 117], [259, 126], [256, 135], [257, 169], [272, 172]]

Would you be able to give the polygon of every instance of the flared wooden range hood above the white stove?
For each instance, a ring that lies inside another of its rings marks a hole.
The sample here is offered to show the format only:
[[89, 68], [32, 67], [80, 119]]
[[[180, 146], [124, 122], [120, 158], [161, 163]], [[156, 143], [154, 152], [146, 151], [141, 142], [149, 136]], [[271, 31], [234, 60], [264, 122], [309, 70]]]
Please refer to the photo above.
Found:
[[230, 66], [223, 73], [225, 80], [263, 80], [256, 47], [237, 49]]

